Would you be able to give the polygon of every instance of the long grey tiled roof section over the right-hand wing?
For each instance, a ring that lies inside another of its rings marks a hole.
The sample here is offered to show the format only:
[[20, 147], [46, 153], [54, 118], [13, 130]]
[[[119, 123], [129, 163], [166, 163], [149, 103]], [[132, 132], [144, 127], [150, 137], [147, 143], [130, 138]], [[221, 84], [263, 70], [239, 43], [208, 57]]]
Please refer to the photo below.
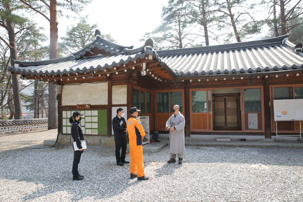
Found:
[[288, 35], [234, 44], [157, 51], [161, 61], [177, 74], [216, 75], [301, 69]]

